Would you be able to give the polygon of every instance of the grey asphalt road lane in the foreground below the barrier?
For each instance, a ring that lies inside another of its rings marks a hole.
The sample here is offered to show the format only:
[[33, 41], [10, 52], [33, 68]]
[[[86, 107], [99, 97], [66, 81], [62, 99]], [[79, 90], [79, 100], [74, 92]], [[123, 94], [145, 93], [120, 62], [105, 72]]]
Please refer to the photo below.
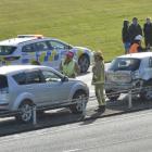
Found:
[[0, 138], [1, 152], [151, 152], [152, 110]]

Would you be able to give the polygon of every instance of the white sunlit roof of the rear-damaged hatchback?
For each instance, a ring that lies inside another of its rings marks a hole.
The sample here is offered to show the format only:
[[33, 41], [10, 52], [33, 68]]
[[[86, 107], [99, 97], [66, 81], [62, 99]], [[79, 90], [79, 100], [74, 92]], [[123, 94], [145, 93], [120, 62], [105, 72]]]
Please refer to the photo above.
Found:
[[130, 53], [130, 54], [125, 54], [117, 58], [143, 59], [143, 58], [149, 58], [149, 56], [152, 56], [152, 52]]

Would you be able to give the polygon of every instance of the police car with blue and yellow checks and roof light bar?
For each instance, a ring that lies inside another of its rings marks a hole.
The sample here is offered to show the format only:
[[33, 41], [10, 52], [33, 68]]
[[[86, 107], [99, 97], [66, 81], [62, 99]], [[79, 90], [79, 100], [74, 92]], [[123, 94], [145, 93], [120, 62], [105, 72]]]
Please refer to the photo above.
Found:
[[41, 65], [59, 69], [67, 51], [74, 52], [74, 59], [86, 73], [92, 60], [92, 51], [88, 48], [74, 47], [55, 38], [42, 35], [18, 35], [0, 41], [0, 65], [31, 64], [39, 61]]

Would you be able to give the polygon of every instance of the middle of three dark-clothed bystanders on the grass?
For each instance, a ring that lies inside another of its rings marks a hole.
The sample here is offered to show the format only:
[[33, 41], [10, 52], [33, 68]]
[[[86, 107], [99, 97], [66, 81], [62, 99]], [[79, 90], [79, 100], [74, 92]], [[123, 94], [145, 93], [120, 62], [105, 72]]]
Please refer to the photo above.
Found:
[[130, 43], [134, 43], [135, 37], [136, 36], [142, 36], [142, 28], [141, 26], [138, 24], [138, 18], [134, 17], [132, 18], [132, 23], [129, 26], [129, 37], [130, 37]]

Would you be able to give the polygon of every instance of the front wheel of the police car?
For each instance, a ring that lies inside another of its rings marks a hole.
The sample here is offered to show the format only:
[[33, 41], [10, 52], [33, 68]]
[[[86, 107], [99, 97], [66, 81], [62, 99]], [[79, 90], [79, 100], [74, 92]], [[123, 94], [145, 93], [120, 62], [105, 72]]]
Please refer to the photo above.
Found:
[[80, 67], [80, 73], [87, 73], [89, 66], [90, 66], [90, 60], [89, 56], [86, 54], [83, 54], [79, 59], [78, 59], [78, 65]]

